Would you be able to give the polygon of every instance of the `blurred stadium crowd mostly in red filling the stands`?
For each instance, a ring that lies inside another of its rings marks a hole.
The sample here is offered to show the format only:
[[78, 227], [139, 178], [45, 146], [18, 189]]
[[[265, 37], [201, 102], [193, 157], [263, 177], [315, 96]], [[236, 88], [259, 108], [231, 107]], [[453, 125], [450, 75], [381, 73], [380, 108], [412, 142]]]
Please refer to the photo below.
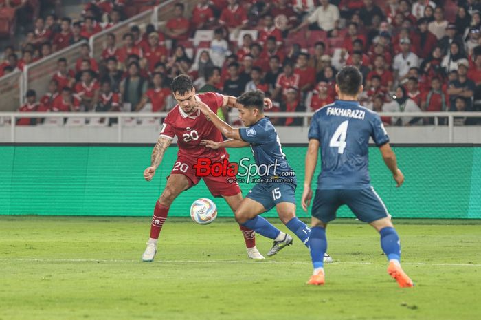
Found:
[[[38, 17], [21, 47], [5, 49], [0, 75], [111, 28], [131, 5], [92, 1], [82, 21]], [[273, 111], [313, 111], [335, 100], [337, 70], [355, 65], [364, 76], [361, 103], [374, 111], [481, 111], [479, 1], [200, 0], [191, 19], [185, 9], [177, 3], [159, 30], [133, 25], [121, 39], [109, 34], [98, 60], [82, 45], [75, 70], [58, 59], [47, 94], [29, 90], [19, 110], [145, 111], [150, 104], [153, 112], [166, 111], [175, 105], [170, 81], [183, 73], [198, 92], [260, 89], [275, 102]], [[212, 30], [212, 39], [194, 46], [197, 30]], [[383, 122], [422, 125], [432, 118]], [[456, 118], [456, 125], [477, 122]]]

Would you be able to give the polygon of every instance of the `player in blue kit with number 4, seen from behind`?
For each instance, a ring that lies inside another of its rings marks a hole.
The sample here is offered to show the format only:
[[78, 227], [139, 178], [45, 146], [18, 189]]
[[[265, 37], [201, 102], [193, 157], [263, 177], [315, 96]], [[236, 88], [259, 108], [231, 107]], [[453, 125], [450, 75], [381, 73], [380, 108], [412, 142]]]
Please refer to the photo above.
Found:
[[397, 167], [396, 156], [378, 114], [362, 107], [357, 96], [362, 92], [362, 76], [353, 66], [347, 66], [336, 76], [339, 100], [315, 112], [309, 128], [309, 147], [302, 208], [307, 211], [313, 192], [311, 182], [317, 157], [321, 153], [321, 173], [311, 209], [312, 227], [309, 239], [313, 275], [308, 284], [323, 285], [325, 281], [323, 255], [327, 248], [326, 226], [335, 220], [339, 206], [346, 204], [363, 222], [371, 224], [381, 235], [381, 248], [389, 260], [388, 273], [400, 287], [413, 286], [401, 268], [399, 236], [392, 225], [388, 209], [370, 184], [368, 144], [370, 138], [381, 150], [385, 164], [397, 186], [404, 182]]

